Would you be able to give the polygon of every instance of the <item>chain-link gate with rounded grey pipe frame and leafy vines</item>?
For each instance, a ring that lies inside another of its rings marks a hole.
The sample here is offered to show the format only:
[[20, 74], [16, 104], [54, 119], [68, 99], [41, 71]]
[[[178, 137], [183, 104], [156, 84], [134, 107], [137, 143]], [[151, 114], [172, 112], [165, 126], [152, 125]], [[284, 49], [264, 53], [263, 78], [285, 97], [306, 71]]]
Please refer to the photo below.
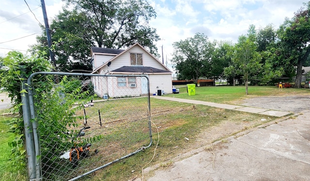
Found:
[[152, 145], [146, 76], [36, 72], [21, 98], [30, 181], [74, 181]]

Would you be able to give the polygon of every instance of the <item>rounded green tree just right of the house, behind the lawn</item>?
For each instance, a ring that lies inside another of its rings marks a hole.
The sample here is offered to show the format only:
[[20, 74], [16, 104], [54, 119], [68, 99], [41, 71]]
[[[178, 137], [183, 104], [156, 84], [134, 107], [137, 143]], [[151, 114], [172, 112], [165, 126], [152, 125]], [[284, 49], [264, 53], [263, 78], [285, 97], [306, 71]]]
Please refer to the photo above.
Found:
[[179, 78], [193, 79], [210, 75], [214, 44], [203, 33], [173, 43], [172, 62]]

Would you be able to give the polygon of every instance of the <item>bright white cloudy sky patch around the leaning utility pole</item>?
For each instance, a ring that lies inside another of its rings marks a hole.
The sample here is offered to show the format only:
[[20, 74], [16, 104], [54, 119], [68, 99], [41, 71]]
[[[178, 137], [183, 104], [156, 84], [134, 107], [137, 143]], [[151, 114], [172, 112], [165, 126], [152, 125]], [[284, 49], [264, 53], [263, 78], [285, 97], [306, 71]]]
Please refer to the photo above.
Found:
[[[58, 13], [59, 10], [61, 10], [63, 2], [62, 0], [54, 0], [53, 2], [50, 1], [47, 2], [48, 2], [46, 3], [47, 16], [50, 20], [50, 17], [54, 17], [55, 14]], [[36, 43], [35, 37], [37, 34], [33, 33], [42, 32], [39, 26], [39, 22], [44, 25], [42, 8], [40, 7], [41, 3], [39, 1], [31, 1], [31, 0], [27, 0], [27, 3], [34, 15], [30, 12], [27, 4], [23, 0], [0, 1], [1, 57], [5, 56], [12, 49], [23, 50], [22, 52], [26, 53], [26, 50], [29, 49], [29, 46]]]

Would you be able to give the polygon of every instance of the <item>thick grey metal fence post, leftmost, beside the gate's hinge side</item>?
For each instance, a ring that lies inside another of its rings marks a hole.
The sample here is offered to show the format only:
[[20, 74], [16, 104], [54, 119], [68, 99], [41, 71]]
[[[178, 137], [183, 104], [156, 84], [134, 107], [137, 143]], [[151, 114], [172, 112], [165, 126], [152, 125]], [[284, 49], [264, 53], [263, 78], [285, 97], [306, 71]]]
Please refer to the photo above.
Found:
[[[31, 115], [29, 108], [29, 98], [28, 98], [28, 86], [26, 84], [27, 80], [22, 81], [21, 85], [21, 103], [22, 103], [22, 111], [23, 111], [23, 119], [24, 119], [24, 132], [25, 132], [25, 143], [26, 143], [26, 156], [28, 161], [28, 175], [29, 179], [33, 180], [36, 178], [36, 170], [35, 170], [35, 153], [34, 153], [34, 145], [33, 145], [33, 134], [32, 134], [32, 124], [31, 124]], [[26, 92], [22, 90], [26, 90]]]

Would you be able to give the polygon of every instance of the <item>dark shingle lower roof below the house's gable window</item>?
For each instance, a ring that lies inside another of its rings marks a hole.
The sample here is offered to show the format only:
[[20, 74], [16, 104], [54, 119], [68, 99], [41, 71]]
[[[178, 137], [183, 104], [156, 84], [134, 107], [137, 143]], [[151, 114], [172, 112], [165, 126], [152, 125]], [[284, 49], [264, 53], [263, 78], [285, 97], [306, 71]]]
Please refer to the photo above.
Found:
[[150, 66], [122, 66], [122, 67], [115, 69], [111, 72], [168, 73], [171, 71], [161, 70], [161, 69], [153, 68]]

